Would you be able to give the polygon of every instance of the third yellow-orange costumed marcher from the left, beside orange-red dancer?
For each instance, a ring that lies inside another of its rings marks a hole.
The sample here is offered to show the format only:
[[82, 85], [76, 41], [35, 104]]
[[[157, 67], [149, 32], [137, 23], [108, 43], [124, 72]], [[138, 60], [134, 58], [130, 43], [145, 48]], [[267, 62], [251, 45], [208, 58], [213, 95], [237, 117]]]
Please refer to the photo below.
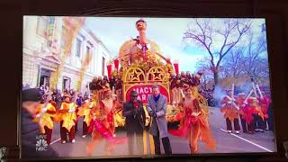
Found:
[[88, 132], [88, 127], [92, 120], [91, 110], [94, 108], [96, 103], [94, 102], [94, 94], [90, 94], [90, 97], [85, 100], [85, 103], [82, 103], [81, 107], [79, 107], [77, 115], [79, 117], [83, 116], [83, 134], [82, 137], [85, 138]]

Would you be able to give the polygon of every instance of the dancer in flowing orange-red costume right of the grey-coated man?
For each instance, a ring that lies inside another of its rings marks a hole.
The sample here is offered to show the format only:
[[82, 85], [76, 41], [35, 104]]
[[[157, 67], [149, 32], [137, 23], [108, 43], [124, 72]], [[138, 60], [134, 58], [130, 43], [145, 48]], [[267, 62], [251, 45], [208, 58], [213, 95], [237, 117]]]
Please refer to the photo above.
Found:
[[184, 101], [180, 103], [184, 109], [184, 126], [179, 130], [169, 130], [175, 136], [189, 139], [191, 153], [198, 152], [198, 139], [205, 142], [207, 148], [216, 148], [216, 141], [211, 137], [208, 118], [199, 106], [199, 101], [193, 97], [191, 87], [186, 88]]

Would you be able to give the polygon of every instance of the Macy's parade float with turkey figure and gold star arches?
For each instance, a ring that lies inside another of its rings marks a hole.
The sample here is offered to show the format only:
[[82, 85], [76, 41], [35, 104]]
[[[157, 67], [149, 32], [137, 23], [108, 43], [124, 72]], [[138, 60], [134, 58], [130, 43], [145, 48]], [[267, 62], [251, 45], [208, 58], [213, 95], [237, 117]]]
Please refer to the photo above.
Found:
[[[146, 105], [148, 94], [152, 94], [152, 86], [157, 84], [160, 93], [167, 98], [166, 120], [168, 123], [180, 121], [183, 112], [172, 102], [169, 80], [171, 74], [179, 74], [179, 63], [177, 61], [172, 63], [170, 58], [165, 58], [157, 44], [146, 38], [147, 23], [144, 20], [136, 22], [136, 28], [139, 36], [125, 41], [121, 45], [118, 57], [107, 63], [108, 77], [121, 79], [120, 92], [113, 87], [113, 93], [117, 95], [117, 100], [123, 103], [130, 100], [131, 91], [137, 91], [139, 100]], [[193, 86], [193, 96], [198, 98], [200, 106], [208, 115], [208, 103], [198, 93], [197, 86]], [[146, 125], [148, 125], [150, 118], [148, 112], [146, 113]], [[120, 110], [115, 114], [115, 125], [122, 127], [124, 121]]]

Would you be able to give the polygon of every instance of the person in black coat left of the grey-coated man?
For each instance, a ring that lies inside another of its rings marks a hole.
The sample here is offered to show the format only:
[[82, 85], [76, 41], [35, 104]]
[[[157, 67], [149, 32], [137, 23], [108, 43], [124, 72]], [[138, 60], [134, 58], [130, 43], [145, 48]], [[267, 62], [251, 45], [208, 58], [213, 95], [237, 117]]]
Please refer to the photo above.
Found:
[[125, 128], [127, 130], [128, 147], [130, 155], [133, 155], [134, 135], [137, 139], [138, 155], [144, 154], [143, 145], [143, 131], [145, 127], [146, 115], [143, 108], [143, 103], [137, 100], [137, 92], [132, 91], [130, 93], [130, 101], [124, 103], [123, 116], [125, 119]]

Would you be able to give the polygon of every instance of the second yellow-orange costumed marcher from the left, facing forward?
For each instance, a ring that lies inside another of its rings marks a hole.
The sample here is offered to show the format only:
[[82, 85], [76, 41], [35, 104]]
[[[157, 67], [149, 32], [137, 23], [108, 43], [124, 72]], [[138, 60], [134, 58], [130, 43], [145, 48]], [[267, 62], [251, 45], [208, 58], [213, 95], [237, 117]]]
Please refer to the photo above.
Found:
[[[58, 111], [60, 114], [60, 135], [61, 142], [64, 144], [67, 142], [67, 133], [69, 140], [75, 143], [75, 124], [76, 124], [76, 103], [71, 102], [70, 94], [64, 94], [64, 101], [61, 103], [61, 107]], [[76, 93], [74, 94], [76, 98]]]

